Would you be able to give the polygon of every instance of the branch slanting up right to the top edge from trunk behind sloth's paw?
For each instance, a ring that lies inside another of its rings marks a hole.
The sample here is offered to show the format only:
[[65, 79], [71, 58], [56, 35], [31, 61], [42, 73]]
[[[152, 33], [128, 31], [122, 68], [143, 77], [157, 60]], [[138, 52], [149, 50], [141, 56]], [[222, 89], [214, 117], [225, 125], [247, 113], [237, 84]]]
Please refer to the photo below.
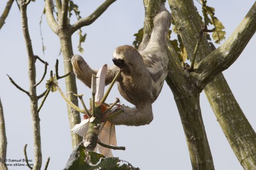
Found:
[[71, 26], [71, 34], [80, 29], [83, 26], [92, 24], [99, 16], [108, 9], [108, 7], [114, 3], [116, 0], [106, 0], [101, 4], [91, 15], [86, 18], [78, 20]]

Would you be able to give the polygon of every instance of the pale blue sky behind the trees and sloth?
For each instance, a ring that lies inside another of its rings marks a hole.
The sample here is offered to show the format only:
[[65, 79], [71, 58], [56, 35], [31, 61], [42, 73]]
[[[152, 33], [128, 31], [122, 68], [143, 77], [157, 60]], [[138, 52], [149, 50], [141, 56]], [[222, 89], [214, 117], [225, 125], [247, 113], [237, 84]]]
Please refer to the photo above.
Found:
[[[87, 16], [103, 1], [76, 1], [81, 15]], [[198, 2], [194, 2], [199, 7]], [[239, 22], [244, 18], [252, 0], [245, 1], [208, 1], [209, 6], [216, 9], [216, 16], [225, 26], [227, 38], [231, 35]], [[0, 12], [6, 4], [0, 1]], [[42, 33], [46, 54], [42, 54], [39, 30], [40, 15], [43, 1], [37, 0], [28, 6], [28, 24], [34, 48], [34, 54], [47, 60], [49, 69], [54, 69], [55, 60], [59, 59], [59, 73], [63, 73], [63, 60], [59, 53], [58, 37], [49, 28], [43, 16]], [[104, 63], [112, 64], [112, 54], [119, 45], [131, 45], [134, 37], [144, 21], [144, 7], [142, 0], [117, 0], [104, 12], [100, 18], [90, 26], [84, 27], [87, 33], [84, 54], [87, 63], [99, 68]], [[77, 49], [78, 36], [72, 37], [74, 54], [80, 54]], [[233, 94], [240, 107], [246, 114], [254, 130], [256, 130], [255, 115], [255, 72], [253, 64], [255, 58], [256, 37], [254, 36], [242, 55], [227, 70], [224, 71]], [[34, 157], [32, 118], [29, 98], [17, 90], [9, 82], [9, 74], [20, 86], [28, 89], [27, 56], [21, 29], [20, 13], [16, 4], [9, 13], [6, 24], [0, 30], [0, 97], [4, 107], [6, 132], [8, 140], [7, 158], [21, 159], [23, 146], [27, 143], [28, 158]], [[41, 78], [43, 65], [37, 62], [37, 80]], [[47, 74], [49, 77], [49, 74]], [[47, 79], [46, 79], [47, 80]], [[38, 88], [38, 94], [45, 90], [44, 80]], [[64, 79], [59, 86], [65, 91]], [[79, 80], [77, 81], [79, 94], [85, 95], [84, 100], [91, 96], [90, 90]], [[116, 86], [108, 98], [109, 103], [120, 97]], [[122, 104], [128, 104], [121, 98]], [[131, 106], [131, 104], [128, 104]], [[168, 106], [169, 111], [165, 108]], [[202, 93], [201, 109], [210, 148], [217, 170], [243, 169], [216, 121], [207, 99]], [[141, 127], [116, 126], [117, 144], [126, 146], [125, 151], [114, 151], [114, 156], [130, 162], [136, 167], [144, 169], [191, 169], [185, 135], [171, 90], [164, 84], [162, 92], [153, 104], [154, 120], [150, 125]], [[43, 166], [48, 157], [51, 161], [48, 169], [63, 169], [72, 151], [70, 130], [65, 101], [58, 93], [50, 93], [44, 107], [40, 111], [41, 141]], [[9, 169], [27, 169], [27, 167], [9, 167]]]

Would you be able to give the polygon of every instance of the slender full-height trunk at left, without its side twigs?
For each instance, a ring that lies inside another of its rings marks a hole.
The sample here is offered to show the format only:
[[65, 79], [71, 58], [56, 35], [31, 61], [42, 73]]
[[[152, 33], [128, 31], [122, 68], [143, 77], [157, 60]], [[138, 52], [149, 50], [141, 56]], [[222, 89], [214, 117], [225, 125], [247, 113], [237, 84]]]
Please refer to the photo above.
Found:
[[28, 78], [29, 78], [29, 96], [31, 99], [31, 114], [33, 120], [33, 137], [34, 137], [34, 166], [33, 169], [41, 169], [42, 165], [42, 152], [41, 152], [41, 136], [40, 136], [40, 118], [38, 109], [38, 98], [36, 94], [36, 66], [33, 47], [28, 31], [27, 24], [27, 4], [25, 1], [21, 2], [21, 22], [22, 30], [27, 48], [28, 55]]

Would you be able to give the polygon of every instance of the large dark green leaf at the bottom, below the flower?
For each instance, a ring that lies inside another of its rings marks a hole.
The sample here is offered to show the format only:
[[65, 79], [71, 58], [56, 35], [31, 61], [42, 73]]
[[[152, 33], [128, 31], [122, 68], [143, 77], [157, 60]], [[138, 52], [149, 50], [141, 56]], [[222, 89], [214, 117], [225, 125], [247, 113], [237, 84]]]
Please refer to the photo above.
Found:
[[119, 158], [106, 158], [93, 151], [85, 151], [83, 143], [80, 143], [70, 155], [65, 170], [82, 169], [139, 169], [133, 167], [130, 163], [122, 161]]

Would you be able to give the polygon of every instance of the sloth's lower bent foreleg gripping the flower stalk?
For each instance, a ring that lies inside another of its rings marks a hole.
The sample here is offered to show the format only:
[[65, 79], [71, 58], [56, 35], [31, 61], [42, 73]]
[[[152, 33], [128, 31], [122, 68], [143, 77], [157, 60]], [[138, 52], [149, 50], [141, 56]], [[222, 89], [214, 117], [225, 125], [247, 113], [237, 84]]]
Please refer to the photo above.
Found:
[[124, 112], [109, 120], [115, 125], [141, 126], [153, 120], [152, 104], [144, 103], [135, 108], [124, 106]]

